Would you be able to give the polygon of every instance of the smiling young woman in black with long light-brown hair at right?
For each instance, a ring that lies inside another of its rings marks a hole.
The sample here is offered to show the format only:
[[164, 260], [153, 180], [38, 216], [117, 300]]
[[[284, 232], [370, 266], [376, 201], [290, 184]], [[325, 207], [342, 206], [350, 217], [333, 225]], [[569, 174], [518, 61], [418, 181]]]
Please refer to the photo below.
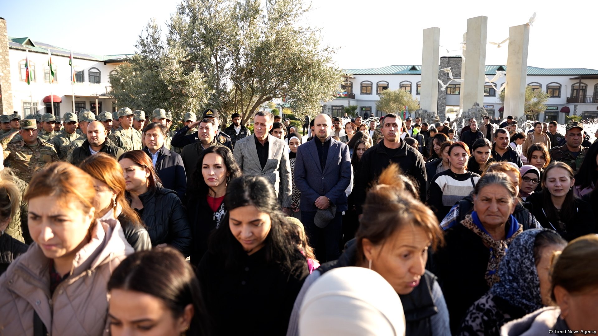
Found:
[[567, 241], [596, 233], [594, 211], [589, 203], [573, 195], [573, 170], [568, 164], [553, 162], [542, 174], [542, 191], [526, 201], [533, 205], [533, 215], [545, 228], [551, 228]]

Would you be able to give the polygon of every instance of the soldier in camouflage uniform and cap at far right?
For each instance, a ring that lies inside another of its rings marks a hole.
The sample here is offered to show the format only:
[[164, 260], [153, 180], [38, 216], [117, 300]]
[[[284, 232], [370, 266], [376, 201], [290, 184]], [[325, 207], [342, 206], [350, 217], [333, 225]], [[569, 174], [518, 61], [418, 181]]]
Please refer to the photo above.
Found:
[[581, 145], [584, 140], [584, 124], [573, 121], [567, 124], [565, 130], [565, 145], [551, 148], [550, 158], [568, 164], [573, 169], [573, 174], [576, 174], [588, 151], [588, 147]]

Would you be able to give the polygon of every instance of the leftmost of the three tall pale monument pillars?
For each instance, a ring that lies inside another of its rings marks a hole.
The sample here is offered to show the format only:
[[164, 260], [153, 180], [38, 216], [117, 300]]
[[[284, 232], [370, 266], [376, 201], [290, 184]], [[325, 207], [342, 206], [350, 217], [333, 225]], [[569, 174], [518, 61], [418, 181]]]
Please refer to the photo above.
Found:
[[[438, 108], [438, 59], [440, 59], [440, 28], [423, 30], [422, 47], [422, 88], [420, 91], [420, 109], [433, 115]], [[417, 88], [416, 88], [417, 90]]]

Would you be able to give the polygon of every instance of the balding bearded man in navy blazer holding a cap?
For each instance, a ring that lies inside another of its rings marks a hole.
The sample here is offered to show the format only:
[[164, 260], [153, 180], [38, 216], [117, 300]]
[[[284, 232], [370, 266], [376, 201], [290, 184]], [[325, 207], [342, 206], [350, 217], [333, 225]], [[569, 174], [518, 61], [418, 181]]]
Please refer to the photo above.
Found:
[[[347, 210], [345, 190], [353, 179], [349, 147], [331, 137], [332, 119], [326, 114], [314, 120], [315, 137], [297, 148], [295, 185], [301, 191], [301, 221], [319, 261], [336, 260], [341, 240], [342, 214]], [[309, 172], [309, 173], [308, 173]], [[336, 207], [334, 219], [316, 227], [318, 209]]]

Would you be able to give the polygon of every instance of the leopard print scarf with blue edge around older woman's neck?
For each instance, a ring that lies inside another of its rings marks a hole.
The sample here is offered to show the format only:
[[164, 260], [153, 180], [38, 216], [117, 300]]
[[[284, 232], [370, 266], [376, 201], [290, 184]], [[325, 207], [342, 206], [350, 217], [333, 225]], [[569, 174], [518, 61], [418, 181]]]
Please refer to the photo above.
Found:
[[[488, 266], [486, 268], [486, 274], [484, 275], [484, 278], [486, 279], [488, 286], [492, 287], [492, 285], [501, 280], [501, 278], [498, 276], [498, 265], [501, 263], [502, 257], [504, 257], [507, 253], [507, 248], [513, 239], [515, 239], [518, 234], [523, 232], [523, 225], [518, 224], [517, 220], [511, 216], [507, 222], [507, 225], [518, 225], [517, 230], [514, 231], [511, 237], [507, 237], [507, 239], [494, 240], [492, 236], [486, 232], [486, 230], [481, 229], [481, 223], [475, 224], [472, 215], [466, 215], [465, 219], [461, 221], [461, 224], [477, 234], [490, 249], [490, 259], [488, 260]], [[477, 219], [477, 215], [475, 218]]]

